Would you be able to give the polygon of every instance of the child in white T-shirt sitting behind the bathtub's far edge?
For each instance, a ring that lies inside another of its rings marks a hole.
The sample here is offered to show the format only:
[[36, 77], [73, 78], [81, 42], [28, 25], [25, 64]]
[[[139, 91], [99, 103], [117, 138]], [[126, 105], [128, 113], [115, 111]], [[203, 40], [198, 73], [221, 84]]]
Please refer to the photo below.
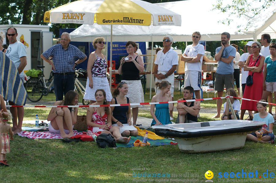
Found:
[[[236, 91], [234, 89], [232, 89], [232, 88], [228, 89], [226, 91], [226, 93], [229, 96], [238, 97]], [[232, 98], [232, 97], [230, 97], [230, 102], [232, 104], [232, 107], [233, 107], [233, 110], [235, 112], [235, 115], [236, 115], [237, 119], [240, 119], [240, 117], [239, 117], [240, 101], [238, 99]], [[223, 111], [223, 114], [221, 116], [221, 119], [222, 120], [226, 120], [228, 118], [228, 116], [229, 116], [229, 119], [234, 119], [234, 115], [232, 114], [232, 112], [231, 112], [231, 110], [230, 110], [230, 108], [228, 106], [228, 103], [225, 102], [223, 104], [223, 106], [224, 106], [224, 111]]]

